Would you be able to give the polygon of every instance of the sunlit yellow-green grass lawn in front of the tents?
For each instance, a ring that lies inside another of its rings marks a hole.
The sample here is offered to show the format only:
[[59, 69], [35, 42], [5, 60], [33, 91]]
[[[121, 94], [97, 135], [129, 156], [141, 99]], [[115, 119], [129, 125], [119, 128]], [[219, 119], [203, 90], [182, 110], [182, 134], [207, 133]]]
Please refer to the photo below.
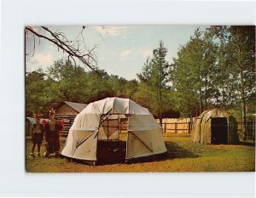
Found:
[[[61, 158], [29, 158], [32, 149], [30, 138], [26, 141], [26, 171], [29, 173], [142, 173], [142, 172], [254, 172], [255, 145], [195, 144], [190, 134], [164, 134], [166, 155], [137, 160], [125, 164], [123, 150], [113, 152], [114, 147], [124, 147], [126, 134], [120, 134], [118, 143], [102, 143], [98, 166], [69, 162]], [[65, 139], [61, 139], [61, 146]], [[108, 148], [107, 148], [108, 147]], [[44, 147], [41, 149], [43, 155]], [[108, 157], [110, 156], [110, 157]], [[111, 158], [110, 160], [108, 158]]]

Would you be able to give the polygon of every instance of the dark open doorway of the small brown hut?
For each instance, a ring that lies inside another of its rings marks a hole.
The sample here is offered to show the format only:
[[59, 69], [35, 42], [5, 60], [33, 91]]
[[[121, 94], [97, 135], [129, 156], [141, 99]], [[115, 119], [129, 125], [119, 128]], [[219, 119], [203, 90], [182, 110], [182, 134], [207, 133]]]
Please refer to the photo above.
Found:
[[212, 144], [228, 143], [228, 122], [225, 117], [212, 118]]

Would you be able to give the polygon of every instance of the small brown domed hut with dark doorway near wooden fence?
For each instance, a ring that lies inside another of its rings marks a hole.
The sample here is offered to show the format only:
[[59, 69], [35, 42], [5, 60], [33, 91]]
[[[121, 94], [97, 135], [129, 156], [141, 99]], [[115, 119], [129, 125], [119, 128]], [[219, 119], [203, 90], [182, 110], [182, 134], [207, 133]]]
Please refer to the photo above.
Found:
[[201, 144], [236, 144], [236, 119], [224, 110], [205, 110], [195, 121], [191, 139]]

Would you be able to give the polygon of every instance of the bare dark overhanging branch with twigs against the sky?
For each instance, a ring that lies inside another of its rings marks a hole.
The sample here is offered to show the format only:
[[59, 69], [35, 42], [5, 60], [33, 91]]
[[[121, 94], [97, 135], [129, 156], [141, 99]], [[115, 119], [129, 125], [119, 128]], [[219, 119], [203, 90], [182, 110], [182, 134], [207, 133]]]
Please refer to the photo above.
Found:
[[92, 71], [97, 71], [96, 54], [94, 52], [96, 46], [94, 48], [86, 47], [83, 36], [84, 29], [85, 26], [82, 27], [78, 37], [76, 37], [75, 40], [70, 40], [63, 32], [51, 31], [46, 26], [26, 26], [25, 35], [32, 35], [34, 42], [32, 53], [26, 52], [26, 57], [29, 57], [30, 55], [33, 56], [35, 51], [36, 37], [38, 37], [39, 43], [40, 39], [43, 38], [46, 41], [54, 44], [58, 50], [61, 49], [63, 54], [67, 54], [68, 60], [73, 60], [74, 65], [77, 65], [76, 59], [78, 59], [82, 64], [89, 67]]

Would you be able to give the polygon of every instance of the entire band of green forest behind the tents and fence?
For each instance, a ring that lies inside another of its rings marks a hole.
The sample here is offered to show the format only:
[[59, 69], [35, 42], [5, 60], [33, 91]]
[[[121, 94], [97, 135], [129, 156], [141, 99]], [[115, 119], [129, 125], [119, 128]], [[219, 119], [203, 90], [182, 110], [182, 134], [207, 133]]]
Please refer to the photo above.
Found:
[[61, 101], [89, 104], [121, 97], [148, 108], [160, 123], [164, 117], [199, 116], [212, 108], [230, 111], [238, 122], [253, 119], [255, 26], [196, 28], [172, 61], [166, 59], [163, 40], [152, 52], [133, 80], [102, 68], [85, 70], [71, 59], [59, 59], [46, 71], [26, 72], [26, 116], [46, 115]]

